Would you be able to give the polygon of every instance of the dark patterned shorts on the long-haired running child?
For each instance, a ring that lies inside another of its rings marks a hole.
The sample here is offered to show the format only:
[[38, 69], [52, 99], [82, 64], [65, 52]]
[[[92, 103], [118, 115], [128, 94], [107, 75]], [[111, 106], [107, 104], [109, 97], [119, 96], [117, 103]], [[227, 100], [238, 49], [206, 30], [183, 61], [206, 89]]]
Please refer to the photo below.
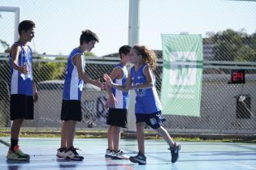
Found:
[[150, 114], [141, 114], [136, 113], [136, 122], [145, 122], [146, 125], [150, 125], [150, 127], [153, 130], [158, 129], [163, 121], [166, 121], [166, 119], [163, 117], [162, 112], [158, 111], [156, 113], [150, 113]]

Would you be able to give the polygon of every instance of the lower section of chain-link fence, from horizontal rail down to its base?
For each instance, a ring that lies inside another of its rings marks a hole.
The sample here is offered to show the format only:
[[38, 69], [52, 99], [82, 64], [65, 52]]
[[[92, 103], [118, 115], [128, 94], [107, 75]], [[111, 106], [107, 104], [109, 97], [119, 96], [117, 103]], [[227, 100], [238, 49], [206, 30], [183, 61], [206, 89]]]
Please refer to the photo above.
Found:
[[[7, 55], [7, 54], [5, 54]], [[102, 74], [111, 72], [118, 63], [118, 57], [88, 57], [86, 74], [92, 79], [102, 79]], [[162, 60], [154, 71], [157, 90], [160, 94], [162, 83]], [[34, 80], [37, 82], [39, 100], [35, 104], [33, 121], [26, 121], [27, 127], [60, 127], [63, 79], [66, 58], [34, 60]], [[245, 70], [244, 84], [230, 83], [233, 69]], [[210, 130], [218, 132], [254, 133], [256, 130], [256, 63], [255, 62], [204, 62], [202, 80], [202, 101], [200, 117], [166, 115], [164, 126], [169, 130]], [[9, 115], [9, 66], [7, 57], [1, 56], [1, 114], [0, 125], [10, 125]], [[245, 100], [239, 101], [241, 96]], [[105, 128], [107, 111], [104, 104], [106, 91], [85, 84], [82, 104], [83, 120], [80, 128]], [[184, 105], [184, 107], [186, 107]]]

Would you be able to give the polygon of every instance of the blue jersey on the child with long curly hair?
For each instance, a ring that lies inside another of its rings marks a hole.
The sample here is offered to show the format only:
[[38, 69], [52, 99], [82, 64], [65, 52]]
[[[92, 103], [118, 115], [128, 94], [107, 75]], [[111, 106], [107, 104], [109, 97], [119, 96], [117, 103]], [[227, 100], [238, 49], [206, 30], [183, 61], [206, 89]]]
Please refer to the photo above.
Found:
[[[143, 64], [139, 70], [135, 70], [135, 67], [131, 68], [131, 79], [134, 85], [146, 83], [145, 75], [143, 73], [147, 64]], [[156, 113], [162, 110], [162, 104], [158, 98], [158, 93], [155, 88], [155, 77], [150, 70], [150, 73], [153, 78], [154, 87], [148, 89], [137, 89], [136, 91], [136, 104], [135, 104], [135, 113]]]

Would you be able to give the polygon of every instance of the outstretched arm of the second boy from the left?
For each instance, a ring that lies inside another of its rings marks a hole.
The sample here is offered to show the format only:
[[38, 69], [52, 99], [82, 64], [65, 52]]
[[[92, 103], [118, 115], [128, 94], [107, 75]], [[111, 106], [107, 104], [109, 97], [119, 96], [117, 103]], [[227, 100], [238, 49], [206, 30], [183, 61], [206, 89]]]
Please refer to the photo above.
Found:
[[75, 57], [73, 57], [72, 61], [73, 61], [74, 65], [76, 65], [78, 77], [80, 79], [84, 80], [85, 83], [90, 83], [90, 84], [93, 84], [94, 86], [97, 86], [97, 87], [100, 87], [101, 89], [103, 89], [104, 85], [100, 81], [96, 81], [96, 80], [90, 79], [89, 76], [87, 76], [84, 73], [83, 67], [82, 67], [82, 58], [81, 58], [80, 54], [78, 54]]

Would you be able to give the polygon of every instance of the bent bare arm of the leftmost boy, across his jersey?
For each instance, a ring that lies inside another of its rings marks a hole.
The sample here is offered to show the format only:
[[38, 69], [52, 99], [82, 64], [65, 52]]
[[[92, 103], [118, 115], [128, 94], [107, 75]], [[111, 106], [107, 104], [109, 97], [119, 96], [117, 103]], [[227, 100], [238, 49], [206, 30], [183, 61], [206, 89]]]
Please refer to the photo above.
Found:
[[20, 73], [28, 74], [27, 66], [19, 66], [19, 55], [20, 55], [20, 45], [12, 45], [11, 47], [11, 66]]

